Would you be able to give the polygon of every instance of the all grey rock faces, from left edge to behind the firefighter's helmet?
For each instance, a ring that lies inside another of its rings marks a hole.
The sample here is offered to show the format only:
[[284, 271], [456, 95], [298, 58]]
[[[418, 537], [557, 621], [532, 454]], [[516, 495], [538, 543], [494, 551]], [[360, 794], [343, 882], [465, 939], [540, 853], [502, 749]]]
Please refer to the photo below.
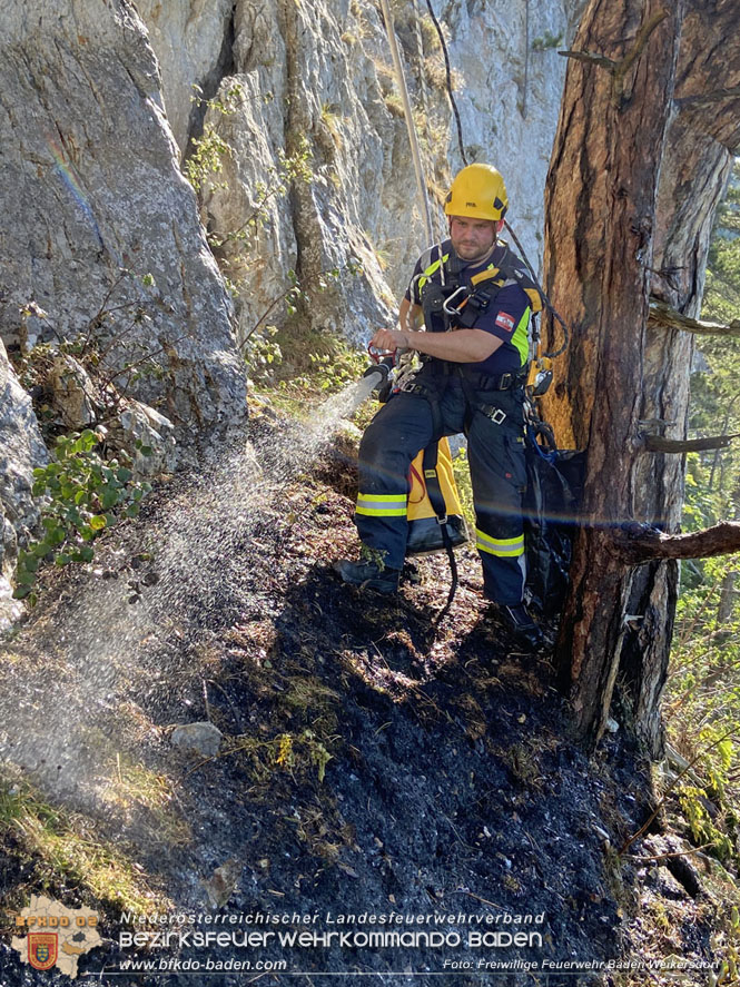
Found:
[[[555, 47], [580, 6], [435, 4], [465, 152], [504, 172], [510, 219], [535, 264], [564, 71]], [[418, 0], [393, 9], [441, 235], [461, 165], [441, 47]], [[28, 0], [0, 11], [0, 39], [9, 348], [97, 339], [105, 375], [157, 408], [142, 414], [166, 416], [182, 450], [243, 418], [235, 330], [240, 343], [256, 324], [279, 323], [296, 280], [314, 329], [361, 342], [393, 319], [427, 236], [376, 4]], [[197, 140], [221, 168], [198, 197], [182, 175]], [[236, 319], [211, 246], [236, 286]], [[30, 471], [46, 452], [4, 349], [1, 366], [8, 574], [36, 517]], [[20, 445], [7, 437], [14, 431]]]

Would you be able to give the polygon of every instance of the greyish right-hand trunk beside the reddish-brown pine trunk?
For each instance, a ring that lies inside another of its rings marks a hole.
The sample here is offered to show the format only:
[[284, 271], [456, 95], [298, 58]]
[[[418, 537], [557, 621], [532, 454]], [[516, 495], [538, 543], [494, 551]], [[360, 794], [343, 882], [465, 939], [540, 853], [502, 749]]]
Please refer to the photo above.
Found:
[[[736, 0], [688, 0], [681, 29], [675, 96], [740, 83]], [[658, 196], [651, 295], [688, 318], [698, 318], [712, 221], [740, 144], [740, 100], [699, 106], [679, 102], [667, 138]], [[653, 306], [654, 310], [654, 306]], [[648, 325], [640, 416], [675, 422], [667, 438], [684, 440], [695, 336]], [[685, 456], [651, 454], [635, 464], [635, 513], [678, 532]], [[626, 610], [644, 620], [622, 642], [620, 681], [633, 709], [635, 732], [648, 751], [662, 756], [660, 699], [668, 672], [679, 570], [654, 561], [632, 570]]]

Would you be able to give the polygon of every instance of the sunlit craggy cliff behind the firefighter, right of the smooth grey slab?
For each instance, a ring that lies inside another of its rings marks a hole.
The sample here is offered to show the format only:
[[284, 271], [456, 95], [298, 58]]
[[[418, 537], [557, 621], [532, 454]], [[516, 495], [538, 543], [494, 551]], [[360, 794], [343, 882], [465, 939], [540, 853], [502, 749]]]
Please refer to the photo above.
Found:
[[[483, 0], [436, 4], [466, 156], [503, 171], [510, 219], [535, 265], [564, 72], [555, 48], [581, 6], [526, 0], [502, 12]], [[203, 127], [184, 102], [191, 87], [205, 96], [218, 92], [221, 103], [235, 85], [240, 87], [235, 112], [206, 113], [206, 126], [231, 151], [214, 179], [226, 188], [204, 194], [204, 219], [220, 238], [244, 230], [258, 213], [246, 239], [227, 239], [223, 247], [239, 284], [240, 335], [268, 309], [275, 320], [270, 306], [290, 286], [294, 270], [310, 298], [307, 312], [315, 327], [366, 339], [374, 325], [393, 318], [410, 266], [427, 239], [377, 4], [236, 0], [225, 7], [191, 0], [187, 14], [182, 4], [157, 0], [137, 7], [159, 59], [165, 106], [181, 150], [188, 135], [198, 137]], [[441, 234], [441, 201], [462, 164], [442, 51], [423, 3], [401, 0], [393, 9]], [[300, 137], [312, 178], [297, 182], [290, 196], [276, 193], [280, 155], [299, 154]], [[268, 199], [259, 208], [265, 191]], [[352, 273], [352, 258], [362, 264], [362, 276]], [[335, 278], [324, 287], [330, 270]]]

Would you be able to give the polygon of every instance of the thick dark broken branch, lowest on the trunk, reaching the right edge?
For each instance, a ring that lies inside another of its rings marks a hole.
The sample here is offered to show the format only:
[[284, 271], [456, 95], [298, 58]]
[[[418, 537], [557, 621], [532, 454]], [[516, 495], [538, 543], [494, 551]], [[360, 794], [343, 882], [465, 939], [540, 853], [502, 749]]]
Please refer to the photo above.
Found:
[[665, 534], [649, 524], [632, 524], [614, 535], [614, 547], [626, 565], [651, 559], [709, 559], [740, 552], [740, 522], [720, 521], [689, 534]]

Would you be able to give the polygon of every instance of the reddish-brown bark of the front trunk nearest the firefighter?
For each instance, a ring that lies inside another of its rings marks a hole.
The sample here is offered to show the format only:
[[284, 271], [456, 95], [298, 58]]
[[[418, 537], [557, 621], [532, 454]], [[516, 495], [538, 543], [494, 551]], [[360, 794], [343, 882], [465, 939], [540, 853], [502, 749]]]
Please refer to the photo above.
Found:
[[[573, 48], [624, 63], [641, 27], [662, 12], [658, 0], [593, 0]], [[657, 23], [619, 89], [613, 72], [571, 62], [547, 177], [545, 278], [573, 332], [570, 384], [556, 387], [570, 402], [558, 424], [588, 448], [588, 526], [575, 539], [558, 654], [578, 727], [593, 739], [624, 633], [629, 581], [611, 529], [634, 512], [649, 269], [682, 13], [679, 2]]]

